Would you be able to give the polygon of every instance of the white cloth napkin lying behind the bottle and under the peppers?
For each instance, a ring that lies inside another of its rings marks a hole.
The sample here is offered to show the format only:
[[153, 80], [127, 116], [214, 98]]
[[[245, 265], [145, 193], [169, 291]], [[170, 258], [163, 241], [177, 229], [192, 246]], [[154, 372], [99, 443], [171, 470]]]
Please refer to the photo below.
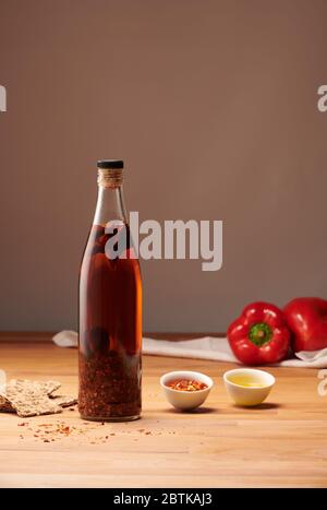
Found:
[[[77, 333], [61, 331], [53, 336], [59, 347], [76, 347]], [[201, 339], [171, 342], [170, 340], [143, 339], [143, 353], [156, 356], [174, 356], [181, 358], [211, 359], [217, 361], [240, 363], [233, 355], [227, 339], [203, 336]], [[327, 368], [327, 348], [322, 351], [295, 353], [292, 359], [286, 359], [276, 366]]]

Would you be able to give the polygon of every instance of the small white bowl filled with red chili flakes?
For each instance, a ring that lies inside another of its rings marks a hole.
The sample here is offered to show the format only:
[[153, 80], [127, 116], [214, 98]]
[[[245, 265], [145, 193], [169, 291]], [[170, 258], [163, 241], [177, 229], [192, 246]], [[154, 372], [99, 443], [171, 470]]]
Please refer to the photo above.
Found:
[[191, 411], [205, 402], [214, 381], [201, 372], [173, 371], [161, 376], [160, 386], [173, 407], [179, 411]]

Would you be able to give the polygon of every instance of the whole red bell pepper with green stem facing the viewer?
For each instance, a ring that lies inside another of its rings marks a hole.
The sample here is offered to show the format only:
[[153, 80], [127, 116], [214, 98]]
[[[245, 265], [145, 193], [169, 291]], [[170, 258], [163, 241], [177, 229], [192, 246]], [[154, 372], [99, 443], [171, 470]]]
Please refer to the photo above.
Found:
[[265, 365], [284, 359], [290, 331], [282, 311], [268, 303], [253, 303], [228, 328], [232, 352], [244, 365]]

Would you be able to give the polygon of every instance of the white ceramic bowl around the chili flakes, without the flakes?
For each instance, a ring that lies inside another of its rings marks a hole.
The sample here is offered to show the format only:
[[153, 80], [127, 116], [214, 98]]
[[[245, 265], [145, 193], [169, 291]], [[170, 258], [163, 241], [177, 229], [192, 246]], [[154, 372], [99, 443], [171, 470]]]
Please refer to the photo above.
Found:
[[[198, 391], [180, 391], [166, 386], [175, 379], [193, 379], [204, 382], [208, 388]], [[191, 411], [204, 403], [214, 386], [214, 381], [204, 373], [182, 370], [165, 373], [160, 378], [160, 386], [166, 399], [173, 407], [180, 411]]]

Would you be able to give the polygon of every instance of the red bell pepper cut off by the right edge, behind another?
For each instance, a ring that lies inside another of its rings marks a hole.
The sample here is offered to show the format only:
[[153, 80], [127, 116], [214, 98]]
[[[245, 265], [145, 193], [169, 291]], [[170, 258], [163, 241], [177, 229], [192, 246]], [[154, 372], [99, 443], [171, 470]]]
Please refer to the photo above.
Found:
[[327, 301], [318, 297], [300, 297], [283, 309], [291, 330], [293, 351], [318, 351], [327, 347]]

